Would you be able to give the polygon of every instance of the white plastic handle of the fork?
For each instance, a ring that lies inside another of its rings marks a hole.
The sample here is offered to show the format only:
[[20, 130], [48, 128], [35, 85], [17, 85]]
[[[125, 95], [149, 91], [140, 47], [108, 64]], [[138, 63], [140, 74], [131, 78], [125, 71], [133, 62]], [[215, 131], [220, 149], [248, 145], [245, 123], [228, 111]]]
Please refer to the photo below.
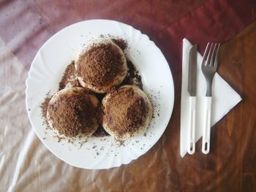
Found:
[[208, 154], [210, 151], [210, 137], [211, 137], [211, 96], [206, 96], [206, 112], [205, 124], [203, 126], [203, 142], [202, 152]]

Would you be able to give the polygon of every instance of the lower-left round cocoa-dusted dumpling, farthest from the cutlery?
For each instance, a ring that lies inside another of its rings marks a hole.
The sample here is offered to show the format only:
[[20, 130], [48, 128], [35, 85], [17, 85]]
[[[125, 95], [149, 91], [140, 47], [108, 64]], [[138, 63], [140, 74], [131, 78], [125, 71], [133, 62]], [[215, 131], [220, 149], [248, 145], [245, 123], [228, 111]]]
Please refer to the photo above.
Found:
[[49, 101], [49, 126], [67, 137], [89, 137], [99, 126], [99, 101], [85, 88], [65, 88]]

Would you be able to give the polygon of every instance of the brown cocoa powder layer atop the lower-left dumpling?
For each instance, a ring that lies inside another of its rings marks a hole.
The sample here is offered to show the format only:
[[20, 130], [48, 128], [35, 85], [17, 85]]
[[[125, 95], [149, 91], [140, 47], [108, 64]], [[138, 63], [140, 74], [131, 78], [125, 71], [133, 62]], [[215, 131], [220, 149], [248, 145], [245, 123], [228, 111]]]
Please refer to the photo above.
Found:
[[58, 101], [48, 105], [48, 112], [53, 128], [67, 137], [86, 134], [97, 120], [97, 110], [91, 104], [89, 95], [75, 92], [72, 95], [59, 95]]

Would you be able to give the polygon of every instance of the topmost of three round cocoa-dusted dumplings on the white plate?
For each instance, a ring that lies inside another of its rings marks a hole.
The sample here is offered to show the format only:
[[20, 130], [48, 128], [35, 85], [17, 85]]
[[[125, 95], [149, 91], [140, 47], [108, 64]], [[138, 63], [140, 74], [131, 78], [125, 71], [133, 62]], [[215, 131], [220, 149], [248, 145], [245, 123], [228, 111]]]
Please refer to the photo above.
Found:
[[75, 62], [80, 84], [96, 93], [105, 93], [127, 75], [127, 60], [113, 41], [94, 43]]

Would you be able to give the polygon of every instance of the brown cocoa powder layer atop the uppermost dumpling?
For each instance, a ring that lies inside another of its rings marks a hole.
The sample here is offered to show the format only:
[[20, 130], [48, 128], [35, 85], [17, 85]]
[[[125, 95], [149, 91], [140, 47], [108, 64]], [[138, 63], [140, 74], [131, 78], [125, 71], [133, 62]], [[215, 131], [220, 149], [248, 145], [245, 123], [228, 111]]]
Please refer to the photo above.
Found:
[[78, 59], [78, 76], [94, 86], [112, 82], [117, 74], [123, 73], [123, 60], [117, 47], [101, 43], [89, 48]]

